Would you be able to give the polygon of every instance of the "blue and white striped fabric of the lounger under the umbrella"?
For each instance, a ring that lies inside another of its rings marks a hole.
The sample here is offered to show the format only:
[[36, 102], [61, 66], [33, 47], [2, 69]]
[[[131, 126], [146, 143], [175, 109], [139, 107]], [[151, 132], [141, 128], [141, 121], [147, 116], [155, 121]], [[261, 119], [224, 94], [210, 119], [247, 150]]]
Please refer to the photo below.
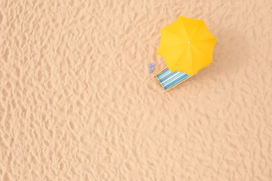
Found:
[[168, 68], [160, 74], [156, 75], [156, 78], [165, 90], [178, 84], [180, 81], [183, 81], [188, 77], [190, 77], [190, 75], [184, 72], [171, 72]]

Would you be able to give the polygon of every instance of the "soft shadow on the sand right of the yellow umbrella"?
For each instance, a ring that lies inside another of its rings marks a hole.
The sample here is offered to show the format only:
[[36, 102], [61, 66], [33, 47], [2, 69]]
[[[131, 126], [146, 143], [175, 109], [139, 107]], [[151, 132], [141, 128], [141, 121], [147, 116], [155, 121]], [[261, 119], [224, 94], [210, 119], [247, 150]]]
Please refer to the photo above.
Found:
[[[213, 51], [213, 63], [200, 70], [197, 76], [188, 81], [204, 81], [216, 77], [232, 77], [246, 66], [245, 54], [249, 54], [250, 46], [238, 31], [220, 31], [215, 33], [217, 42]], [[241, 58], [243, 56], [243, 58]]]

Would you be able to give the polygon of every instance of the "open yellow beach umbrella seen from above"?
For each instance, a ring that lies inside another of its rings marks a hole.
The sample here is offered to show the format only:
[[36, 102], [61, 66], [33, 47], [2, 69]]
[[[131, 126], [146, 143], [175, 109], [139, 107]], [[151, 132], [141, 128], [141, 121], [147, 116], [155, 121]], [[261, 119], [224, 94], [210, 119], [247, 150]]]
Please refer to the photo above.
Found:
[[161, 29], [157, 53], [169, 70], [193, 75], [211, 64], [215, 44], [216, 38], [203, 20], [179, 17]]

